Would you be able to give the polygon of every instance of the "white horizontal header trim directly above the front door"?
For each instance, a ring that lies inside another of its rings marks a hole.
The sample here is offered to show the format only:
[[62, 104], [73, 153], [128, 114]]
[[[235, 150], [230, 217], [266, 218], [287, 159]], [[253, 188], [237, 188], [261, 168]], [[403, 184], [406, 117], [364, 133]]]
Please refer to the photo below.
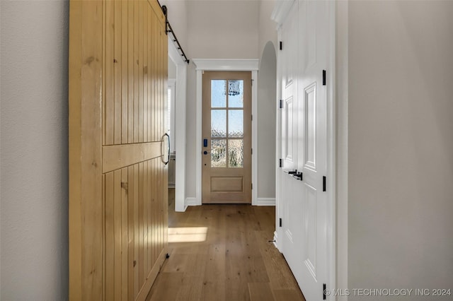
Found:
[[193, 59], [202, 71], [257, 71], [258, 59]]

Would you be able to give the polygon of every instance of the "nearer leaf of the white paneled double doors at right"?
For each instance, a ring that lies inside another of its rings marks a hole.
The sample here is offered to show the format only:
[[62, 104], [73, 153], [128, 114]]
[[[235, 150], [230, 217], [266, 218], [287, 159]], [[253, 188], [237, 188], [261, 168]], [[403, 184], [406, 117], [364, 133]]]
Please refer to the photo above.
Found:
[[299, 164], [302, 172], [303, 252], [297, 279], [306, 300], [322, 300], [328, 281], [327, 94], [323, 70], [328, 69], [328, 1], [299, 2]]

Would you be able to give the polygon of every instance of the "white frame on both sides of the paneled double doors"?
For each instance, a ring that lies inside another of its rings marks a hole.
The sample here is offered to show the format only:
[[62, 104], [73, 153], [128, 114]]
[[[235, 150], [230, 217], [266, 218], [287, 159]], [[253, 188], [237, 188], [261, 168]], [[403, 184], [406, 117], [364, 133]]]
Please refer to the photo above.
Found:
[[[277, 23], [277, 40], [282, 41], [282, 33], [281, 33], [281, 28], [282, 24], [285, 22], [289, 10], [292, 8], [292, 4], [294, 1], [299, 1], [299, 0], [292, 0], [292, 1], [277, 1], [274, 11], [272, 13], [271, 19], [275, 20]], [[343, 39], [341, 42], [344, 43], [344, 39], [347, 39], [347, 22], [345, 23], [345, 20], [347, 19], [347, 1], [345, 5], [338, 6], [336, 2], [329, 2], [328, 3], [328, 30], [329, 30], [329, 44], [331, 47], [328, 49], [328, 68], [326, 73], [326, 81], [328, 83], [327, 85], [327, 90], [326, 90], [326, 97], [327, 97], [327, 182], [326, 182], [326, 190], [327, 190], [327, 201], [328, 201], [328, 225], [327, 225], [327, 231], [328, 231], [328, 236], [327, 236], [327, 252], [328, 252], [328, 262], [327, 262], [327, 267], [328, 267], [328, 290], [332, 291], [335, 290], [338, 287], [338, 281], [341, 281], [341, 286], [340, 288], [347, 288], [347, 277], [346, 279], [338, 279], [337, 276], [347, 276], [347, 244], [348, 244], [348, 237], [347, 237], [347, 225], [344, 225], [345, 223], [345, 217], [340, 216], [340, 222], [342, 223], [340, 227], [338, 227], [338, 209], [342, 209], [342, 213], [345, 212], [345, 208], [347, 208], [344, 205], [345, 202], [347, 202], [347, 184], [348, 184], [348, 179], [347, 179], [347, 170], [345, 170], [343, 167], [345, 166], [345, 160], [347, 160], [347, 150], [344, 148], [345, 143], [347, 143], [347, 125], [345, 125], [345, 120], [347, 120], [347, 117], [345, 117], [345, 114], [347, 114], [347, 92], [345, 95], [345, 85], [347, 85], [347, 70], [340, 70], [341, 75], [345, 76], [345, 79], [341, 81], [341, 86], [337, 88], [337, 70], [336, 70], [336, 54], [337, 54], [337, 43], [336, 43], [336, 24], [337, 24], [337, 18], [339, 16], [338, 11], [341, 13], [346, 12], [346, 18], [343, 18], [343, 28], [342, 32], [340, 33], [340, 37]], [[346, 24], [346, 25], [344, 25]], [[344, 29], [344, 26], [346, 29]], [[346, 31], [346, 33], [345, 33]], [[345, 50], [345, 45], [341, 44], [340, 47], [341, 49], [341, 54], [345, 57], [347, 57], [347, 49]], [[281, 66], [281, 61], [282, 61], [282, 54], [281, 52], [277, 52], [277, 99], [281, 99], [282, 97], [282, 66]], [[340, 57], [338, 61], [346, 63], [347, 66], [347, 61], [348, 59], [344, 57]], [[347, 69], [347, 67], [346, 67]], [[341, 79], [341, 78], [340, 78]], [[346, 89], [347, 90], [347, 89]], [[340, 93], [340, 94], [337, 94]], [[337, 101], [341, 100], [341, 103], [337, 105]], [[277, 104], [278, 105], [278, 104]], [[337, 106], [339, 110], [341, 111], [341, 114], [337, 114]], [[280, 126], [281, 123], [281, 112], [280, 109], [277, 108], [277, 128], [276, 128], [276, 141], [277, 141], [277, 146], [276, 146], [276, 152], [275, 155], [277, 156], [276, 162], [278, 164], [278, 161], [280, 158], [282, 158], [282, 153], [281, 153], [281, 138], [282, 138], [282, 129]], [[340, 122], [338, 124], [337, 122]], [[346, 128], [344, 127], [346, 126]], [[337, 132], [337, 127], [339, 127]], [[340, 139], [341, 147], [338, 147], [338, 138]], [[337, 150], [339, 151], [340, 157], [337, 158]], [[345, 157], [346, 156], [346, 157]], [[338, 167], [337, 164], [340, 164], [340, 167]], [[282, 237], [283, 237], [283, 232], [282, 228], [279, 227], [279, 218], [282, 218], [282, 196], [281, 196], [281, 182], [280, 182], [280, 172], [281, 169], [278, 167], [276, 168], [276, 175], [275, 175], [275, 182], [276, 182], [276, 187], [275, 187], [275, 232], [274, 232], [274, 244], [277, 247], [277, 249], [282, 252]], [[337, 172], [340, 172], [340, 175], [344, 176], [345, 179], [341, 179], [340, 182], [337, 182]], [[337, 187], [338, 184], [342, 184], [341, 187]], [[346, 186], [343, 186], [346, 185]], [[338, 190], [337, 190], [338, 189]], [[340, 196], [337, 195], [337, 192], [340, 193]], [[346, 200], [345, 200], [346, 198]], [[337, 202], [340, 202], [339, 204]], [[340, 206], [338, 206], [340, 205]], [[347, 220], [347, 218], [346, 218]], [[341, 231], [341, 233], [338, 233], [338, 230]], [[346, 233], [346, 234], [345, 234]], [[342, 237], [345, 241], [343, 242], [337, 242], [337, 237]], [[337, 248], [338, 245], [340, 244], [341, 253], [340, 257], [338, 257], [338, 252]], [[346, 248], [346, 249], [345, 249]], [[338, 271], [338, 264], [340, 264], [340, 268]], [[338, 272], [340, 274], [338, 274]], [[346, 285], [346, 286], [343, 286]], [[336, 300], [336, 297], [332, 297], [333, 300]]]

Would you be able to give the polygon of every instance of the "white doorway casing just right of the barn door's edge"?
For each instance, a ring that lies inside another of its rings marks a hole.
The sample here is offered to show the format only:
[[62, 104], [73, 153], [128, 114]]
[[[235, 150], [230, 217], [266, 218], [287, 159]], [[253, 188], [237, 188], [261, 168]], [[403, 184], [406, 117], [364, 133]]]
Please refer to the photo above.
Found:
[[[185, 100], [187, 64], [180, 56], [171, 37], [168, 36], [168, 57], [176, 64], [176, 112], [175, 112], [175, 211], [183, 212], [185, 205]], [[178, 131], [178, 129], [182, 129]]]

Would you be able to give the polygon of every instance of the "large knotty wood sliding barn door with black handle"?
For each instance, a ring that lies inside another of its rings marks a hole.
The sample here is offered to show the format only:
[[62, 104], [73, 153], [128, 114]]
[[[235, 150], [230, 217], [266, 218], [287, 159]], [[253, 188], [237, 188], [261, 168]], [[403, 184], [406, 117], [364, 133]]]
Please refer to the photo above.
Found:
[[156, 0], [70, 2], [69, 298], [144, 300], [167, 246]]

